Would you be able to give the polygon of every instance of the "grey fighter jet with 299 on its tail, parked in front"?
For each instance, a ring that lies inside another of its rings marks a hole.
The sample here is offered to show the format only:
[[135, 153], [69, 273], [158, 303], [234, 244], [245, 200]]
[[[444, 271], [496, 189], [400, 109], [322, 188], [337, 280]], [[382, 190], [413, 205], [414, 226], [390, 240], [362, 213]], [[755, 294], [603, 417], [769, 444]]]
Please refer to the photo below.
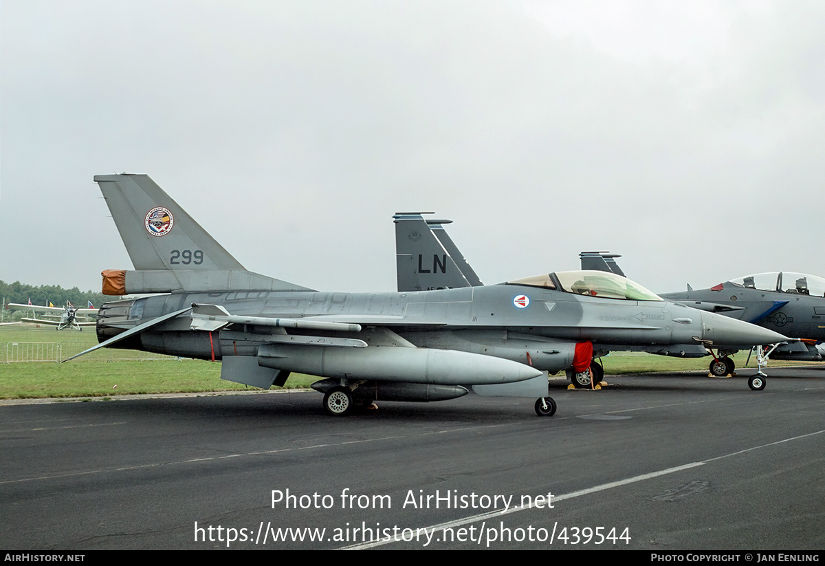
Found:
[[[332, 293], [247, 271], [145, 175], [101, 175], [134, 271], [104, 271], [96, 347], [222, 361], [221, 379], [281, 385], [319, 375], [329, 413], [378, 399], [538, 397], [543, 370], [589, 366], [591, 341], [747, 347], [780, 334], [667, 303], [623, 277], [545, 273], [502, 285], [405, 293]], [[427, 230], [430, 233], [429, 230]], [[587, 358], [582, 361], [582, 358]]]

